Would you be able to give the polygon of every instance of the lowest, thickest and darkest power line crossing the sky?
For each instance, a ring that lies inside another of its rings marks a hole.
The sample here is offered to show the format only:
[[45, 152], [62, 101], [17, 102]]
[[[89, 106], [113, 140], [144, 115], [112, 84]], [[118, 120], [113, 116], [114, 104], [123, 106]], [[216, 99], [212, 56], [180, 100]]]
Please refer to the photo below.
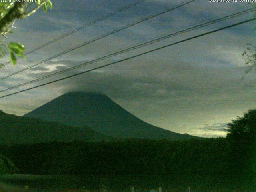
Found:
[[110, 66], [110, 65], [113, 65], [113, 64], [116, 64], [116, 63], [119, 63], [119, 62], [123, 62], [123, 61], [129, 60], [129, 59], [132, 59], [132, 58], [136, 58], [136, 57], [138, 57], [138, 56], [142, 56], [142, 55], [145, 55], [145, 54], [148, 54], [148, 53], [151, 53], [151, 52], [154, 52], [154, 51], [157, 51], [157, 50], [160, 50], [160, 49], [169, 47], [169, 46], [173, 46], [173, 45], [175, 45], [175, 44], [179, 44], [179, 43], [182, 43], [182, 42], [185, 42], [185, 41], [188, 41], [188, 40], [192, 40], [192, 39], [195, 39], [195, 38], [198, 38], [198, 37], [202, 37], [202, 36], [205, 36], [205, 35], [208, 35], [208, 34], [211, 34], [211, 33], [214, 33], [214, 32], [218, 32], [218, 31], [220, 31], [220, 30], [224, 30], [224, 29], [227, 29], [227, 28], [230, 28], [230, 27], [233, 27], [233, 26], [237, 26], [237, 25], [240, 25], [240, 24], [244, 24], [244, 23], [246, 23], [246, 22], [250, 22], [250, 21], [253, 21], [253, 20], [256, 20], [256, 18], [248, 19], [248, 20], [245, 20], [245, 21], [243, 21], [243, 22], [238, 22], [238, 23], [236, 23], [236, 24], [232, 24], [232, 25], [229, 25], [229, 26], [226, 26], [226, 27], [222, 27], [222, 28], [219, 28], [219, 29], [216, 29], [216, 30], [212, 30], [212, 31], [210, 31], [210, 32], [206, 32], [206, 33], [203, 33], [203, 34], [200, 34], [200, 35], [196, 35], [196, 36], [193, 36], [193, 37], [190, 37], [190, 38], [187, 38], [187, 39], [184, 39], [184, 40], [175, 42], [175, 43], [171, 43], [171, 44], [168, 44], [168, 45], [165, 45], [165, 46], [162, 46], [162, 47], [159, 47], [159, 48], [150, 50], [150, 51], [143, 52], [143, 53], [141, 53], [141, 54], [137, 54], [137, 55], [134, 55], [134, 56], [131, 56], [131, 57], [128, 57], [128, 58], [125, 58], [125, 59], [116, 61], [116, 62], [112, 62], [112, 63], [109, 63], [109, 64], [105, 64], [105, 65], [103, 65], [103, 66], [99, 66], [99, 67], [96, 67], [96, 68], [93, 68], [93, 69], [90, 69], [90, 70], [86, 70], [86, 71], [84, 71], [84, 72], [76, 73], [76, 74], [73, 74], [73, 75], [70, 75], [70, 76], [67, 76], [67, 77], [64, 77], [64, 78], [60, 78], [60, 79], [57, 79], [57, 80], [54, 80], [54, 81], [51, 81], [51, 82], [48, 82], [48, 83], [44, 83], [44, 84], [41, 84], [41, 85], [38, 85], [38, 86], [34, 86], [34, 87], [31, 87], [31, 88], [28, 88], [28, 89], [24, 89], [24, 90], [21, 90], [21, 91], [18, 91], [18, 92], [14, 92], [14, 93], [11, 93], [11, 94], [8, 94], [8, 95], [4, 95], [4, 96], [1, 96], [0, 98], [4, 98], [4, 97], [7, 97], [7, 96], [11, 96], [11, 95], [14, 95], [14, 94], [18, 94], [18, 93], [21, 93], [21, 92], [24, 92], [24, 91], [31, 90], [31, 89], [34, 89], [34, 88], [38, 88], [38, 87], [41, 87], [41, 86], [45, 86], [45, 85], [48, 85], [48, 84], [52, 84], [52, 83], [54, 83], [54, 82], [58, 82], [58, 81], [61, 81], [61, 80], [65, 80], [65, 79], [74, 77], [74, 76], [78, 76], [78, 75], [80, 75], [80, 74], [88, 73], [88, 72], [91, 72], [91, 71], [93, 71], [93, 70], [97, 70], [97, 69], [100, 69], [100, 68], [104, 68], [104, 67], [106, 67], [106, 66]]

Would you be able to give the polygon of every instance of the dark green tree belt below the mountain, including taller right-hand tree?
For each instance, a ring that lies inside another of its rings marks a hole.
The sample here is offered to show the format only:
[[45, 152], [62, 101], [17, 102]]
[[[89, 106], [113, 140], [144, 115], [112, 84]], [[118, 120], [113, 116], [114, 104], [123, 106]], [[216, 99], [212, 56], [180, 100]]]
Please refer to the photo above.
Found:
[[[228, 124], [226, 138], [47, 142], [0, 146], [22, 174], [111, 178], [128, 186], [255, 191], [256, 110]], [[120, 187], [120, 186], [119, 186]]]

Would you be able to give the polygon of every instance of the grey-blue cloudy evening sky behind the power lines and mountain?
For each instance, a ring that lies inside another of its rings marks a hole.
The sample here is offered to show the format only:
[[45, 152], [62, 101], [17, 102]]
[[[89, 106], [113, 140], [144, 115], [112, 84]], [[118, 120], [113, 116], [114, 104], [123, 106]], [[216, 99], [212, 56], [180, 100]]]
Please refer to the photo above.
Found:
[[[29, 18], [16, 21], [15, 34], [9, 35], [8, 41], [21, 42], [29, 51], [132, 2], [135, 1], [52, 0], [54, 8], [47, 14], [40, 10]], [[182, 2], [146, 0], [29, 54], [26, 60], [18, 60], [16, 66], [8, 64], [1, 68], [0, 77]], [[211, 3], [209, 0], [196, 0], [6, 78], [0, 82], [0, 90], [252, 6], [240, 2]], [[253, 16], [254, 13], [249, 13], [180, 34], [34, 84], [2, 92], [0, 96], [108, 64]], [[247, 69], [242, 53], [247, 43], [256, 43], [254, 26], [255, 21], [249, 22], [90, 73], [1, 98], [0, 109], [10, 114], [23, 115], [64, 93], [93, 91], [106, 94], [132, 114], [155, 126], [196, 136], [225, 136], [223, 128], [227, 123], [236, 116], [242, 116], [247, 110], [256, 108], [256, 87], [253, 86], [256, 84], [256, 72], [250, 72], [241, 81]], [[7, 60], [8, 58], [4, 58], [1, 62]]]

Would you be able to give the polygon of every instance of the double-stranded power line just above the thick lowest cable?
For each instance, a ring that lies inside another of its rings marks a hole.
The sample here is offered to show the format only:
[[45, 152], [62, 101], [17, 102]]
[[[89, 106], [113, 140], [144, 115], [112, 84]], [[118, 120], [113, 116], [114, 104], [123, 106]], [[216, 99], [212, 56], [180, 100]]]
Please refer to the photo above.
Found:
[[135, 49], [138, 49], [138, 48], [141, 48], [141, 47], [144, 47], [144, 46], [147, 46], [147, 45], [150, 45], [150, 44], [159, 42], [159, 41], [161, 41], [161, 40], [164, 40], [164, 39], [167, 39], [167, 38], [170, 38], [170, 37], [173, 37], [173, 36], [176, 36], [176, 35], [185, 33], [185, 32], [189, 32], [189, 31], [192, 31], [192, 30], [196, 30], [196, 29], [198, 29], [198, 28], [202, 28], [202, 27], [205, 27], [205, 26], [208, 26], [208, 25], [217, 23], [217, 22], [221, 22], [221, 21], [224, 21], [224, 20], [227, 20], [227, 19], [230, 19], [230, 18], [234, 18], [234, 17], [237, 17], [237, 16], [241, 16], [241, 15], [243, 15], [243, 14], [247, 14], [247, 13], [250, 13], [250, 12], [254, 12], [255, 10], [256, 10], [256, 8], [250, 8], [250, 9], [243, 10], [243, 11], [240, 11], [240, 12], [237, 12], [237, 13], [234, 13], [234, 14], [230, 14], [230, 15], [228, 15], [228, 16], [224, 16], [224, 17], [222, 17], [222, 18], [218, 18], [218, 19], [214, 19], [214, 20], [205, 22], [205, 23], [203, 23], [203, 24], [199, 24], [199, 25], [196, 25], [196, 26], [193, 26], [193, 27], [190, 27], [190, 28], [186, 28], [185, 30], [180, 30], [180, 31], [175, 32], [175, 33], [172, 33], [172, 34], [168, 34], [168, 35], [165, 35], [165, 36], [161, 36], [160, 38], [156, 38], [156, 39], [153, 39], [153, 40], [144, 42], [144, 43], [142, 43], [142, 44], [138, 44], [138, 45], [136, 45], [136, 46], [132, 46], [132, 47], [129, 47], [129, 48], [120, 50], [120, 51], [118, 51], [118, 52], [114, 52], [114, 53], [111, 53], [111, 54], [102, 56], [102, 57], [100, 57], [100, 58], [96, 58], [96, 59], [94, 59], [94, 60], [91, 60], [91, 61], [88, 61], [88, 62], [85, 62], [85, 63], [82, 63], [82, 64], [78, 64], [78, 65], [76, 65], [76, 66], [73, 66], [73, 67], [70, 67], [70, 68], [67, 68], [67, 69], [64, 69], [64, 70], [58, 70], [57, 72], [54, 72], [54, 73], [52, 73], [52, 74], [48, 74], [48, 75], [46, 75], [46, 76], [41, 76], [41, 77], [38, 77], [38, 78], [36, 78], [36, 79], [34, 79], [34, 80], [31, 80], [31, 81], [28, 81], [28, 82], [24, 82], [24, 83], [22, 83], [22, 84], [17, 84], [17, 85], [15, 85], [15, 86], [10, 87], [10, 88], [6, 88], [6, 89], [4, 89], [4, 90], [0, 90], [0, 92], [6, 92], [6, 91], [8, 91], [8, 90], [12, 90], [12, 89], [15, 89], [15, 88], [24, 86], [24, 85], [28, 85], [28, 84], [31, 84], [31, 83], [34, 83], [34, 82], [37, 82], [37, 81], [40, 81], [40, 80], [43, 80], [43, 79], [46, 79], [46, 78], [49, 78], [49, 77], [58, 75], [58, 74], [62, 74], [62, 73], [64, 73], [64, 72], [67, 72], [67, 71], [70, 71], [70, 70], [74, 70], [74, 69], [79, 68], [79, 67], [82, 67], [82, 66], [87, 66], [87, 65], [92, 64], [92, 63], [94, 63], [94, 62], [98, 62], [98, 61], [101, 61], [101, 60], [105, 60], [105, 59], [107, 59], [107, 58], [110, 58], [110, 57], [112, 57], [112, 56], [116, 56], [116, 55], [118, 55], [118, 54], [122, 54], [122, 53], [124, 53], [124, 52], [128, 52], [128, 51], [131, 51], [131, 50], [135, 50]]

